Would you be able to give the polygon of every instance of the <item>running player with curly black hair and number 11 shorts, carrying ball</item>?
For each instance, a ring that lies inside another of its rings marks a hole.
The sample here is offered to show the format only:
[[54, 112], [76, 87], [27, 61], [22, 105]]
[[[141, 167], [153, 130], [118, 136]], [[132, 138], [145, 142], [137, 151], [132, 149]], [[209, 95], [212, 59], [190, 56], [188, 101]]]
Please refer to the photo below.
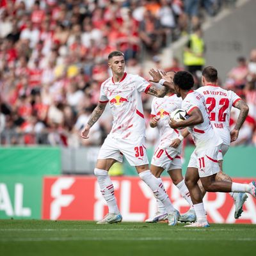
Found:
[[202, 201], [202, 192], [198, 186], [199, 179], [205, 191], [246, 192], [255, 197], [256, 184], [255, 181], [250, 184], [240, 184], [215, 179], [216, 173], [220, 172], [217, 158], [223, 141], [212, 128], [204, 96], [191, 90], [194, 80], [189, 72], [177, 72], [173, 77], [173, 82], [175, 93], [178, 97], [182, 97], [182, 109], [187, 111], [189, 118], [180, 122], [170, 119], [169, 123], [173, 129], [188, 127], [196, 145], [190, 162], [194, 163], [196, 160], [198, 166], [195, 168], [188, 164], [185, 177], [196, 212], [196, 222], [186, 227], [209, 227]]

